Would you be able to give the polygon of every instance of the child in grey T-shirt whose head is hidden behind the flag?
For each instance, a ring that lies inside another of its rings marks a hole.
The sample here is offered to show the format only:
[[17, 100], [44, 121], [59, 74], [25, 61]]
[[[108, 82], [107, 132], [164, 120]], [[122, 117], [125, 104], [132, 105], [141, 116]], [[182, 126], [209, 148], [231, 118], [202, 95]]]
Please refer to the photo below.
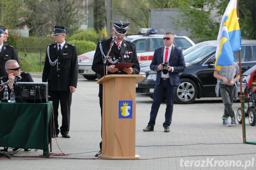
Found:
[[[232, 66], [221, 66], [220, 70], [214, 70], [213, 76], [218, 79], [215, 92], [218, 96], [220, 95], [224, 104], [224, 114], [222, 116], [223, 126], [236, 126], [236, 117], [232, 109], [232, 104], [234, 100], [236, 90], [236, 83], [240, 79], [239, 66], [234, 62]], [[235, 77], [235, 78], [234, 78]], [[231, 117], [231, 125], [229, 124], [227, 118]]]

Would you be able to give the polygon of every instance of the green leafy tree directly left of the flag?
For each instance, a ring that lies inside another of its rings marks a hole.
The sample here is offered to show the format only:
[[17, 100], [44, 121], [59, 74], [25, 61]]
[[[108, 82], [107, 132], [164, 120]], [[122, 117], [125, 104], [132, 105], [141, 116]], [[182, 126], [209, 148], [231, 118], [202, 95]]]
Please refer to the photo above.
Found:
[[178, 20], [173, 21], [176, 30], [179, 30], [180, 27], [185, 30], [190, 30], [190, 38], [199, 38], [199, 41], [216, 39], [219, 22], [211, 19], [211, 13], [214, 8], [207, 10], [204, 8], [204, 6], [214, 6], [215, 1], [216, 0], [180, 1], [179, 11], [181, 14], [178, 16]]

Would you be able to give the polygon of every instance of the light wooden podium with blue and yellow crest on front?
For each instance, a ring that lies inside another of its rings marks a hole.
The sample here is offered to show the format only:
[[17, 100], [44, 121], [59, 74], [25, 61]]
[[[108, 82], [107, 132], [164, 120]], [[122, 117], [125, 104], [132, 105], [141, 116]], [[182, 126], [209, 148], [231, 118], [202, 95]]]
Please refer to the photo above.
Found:
[[102, 155], [107, 159], [140, 159], [135, 155], [136, 83], [141, 74], [106, 75], [102, 103]]

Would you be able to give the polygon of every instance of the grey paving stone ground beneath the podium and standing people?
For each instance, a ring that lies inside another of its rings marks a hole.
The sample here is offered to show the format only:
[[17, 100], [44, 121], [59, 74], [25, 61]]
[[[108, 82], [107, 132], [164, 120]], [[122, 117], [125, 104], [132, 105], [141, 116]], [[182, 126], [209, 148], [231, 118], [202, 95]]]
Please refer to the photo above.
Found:
[[[35, 75], [33, 79], [41, 82]], [[193, 104], [174, 104], [169, 133], [164, 132], [162, 127], [165, 102], [159, 108], [154, 131], [142, 131], [149, 121], [151, 104], [151, 98], [136, 95], [135, 153], [140, 156], [139, 160], [96, 158], [94, 155], [101, 141], [98, 84], [96, 80], [80, 77], [72, 96], [71, 138], [52, 139], [52, 153], [71, 155], [41, 158], [37, 156], [43, 154], [42, 150], [24, 152], [22, 149], [15, 156], [24, 158], [0, 158], [0, 169], [256, 169], [256, 145], [243, 144], [242, 125], [222, 126], [224, 106], [221, 98], [202, 98]], [[233, 104], [235, 113], [240, 106], [239, 102]], [[61, 118], [60, 115], [59, 122]], [[247, 141], [256, 141], [256, 127], [249, 125], [248, 118], [245, 124]]]

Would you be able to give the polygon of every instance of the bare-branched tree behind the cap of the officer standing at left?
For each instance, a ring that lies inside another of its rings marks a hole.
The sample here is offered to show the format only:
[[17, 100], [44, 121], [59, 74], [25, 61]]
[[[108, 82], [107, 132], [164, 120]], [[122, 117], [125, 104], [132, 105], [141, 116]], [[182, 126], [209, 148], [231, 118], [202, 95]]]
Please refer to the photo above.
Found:
[[24, 1], [31, 13], [27, 23], [35, 36], [49, 35], [53, 25], [66, 26], [67, 36], [71, 36], [84, 23], [82, 6], [75, 0]]

